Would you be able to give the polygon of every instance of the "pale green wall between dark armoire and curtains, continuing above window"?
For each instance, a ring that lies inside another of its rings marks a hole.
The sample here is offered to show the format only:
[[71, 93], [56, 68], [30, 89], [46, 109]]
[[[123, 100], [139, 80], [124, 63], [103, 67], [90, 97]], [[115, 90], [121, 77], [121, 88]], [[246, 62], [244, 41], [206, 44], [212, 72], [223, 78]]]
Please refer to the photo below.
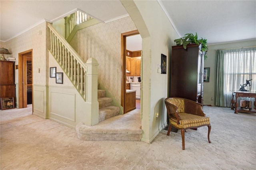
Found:
[[216, 76], [216, 51], [215, 49], [237, 48], [256, 46], [256, 40], [241, 42], [230, 42], [208, 45], [207, 59], [204, 61], [204, 67], [210, 67], [209, 82], [204, 82], [204, 105], [214, 106], [214, 88]]

